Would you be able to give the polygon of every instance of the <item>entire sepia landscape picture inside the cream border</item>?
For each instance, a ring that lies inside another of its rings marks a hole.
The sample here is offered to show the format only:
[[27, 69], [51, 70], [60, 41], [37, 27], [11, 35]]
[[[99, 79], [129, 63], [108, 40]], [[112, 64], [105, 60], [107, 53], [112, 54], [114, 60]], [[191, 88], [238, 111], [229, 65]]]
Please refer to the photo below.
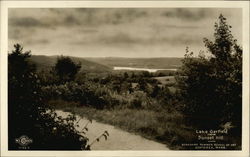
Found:
[[7, 12], [7, 151], [243, 150], [242, 8]]

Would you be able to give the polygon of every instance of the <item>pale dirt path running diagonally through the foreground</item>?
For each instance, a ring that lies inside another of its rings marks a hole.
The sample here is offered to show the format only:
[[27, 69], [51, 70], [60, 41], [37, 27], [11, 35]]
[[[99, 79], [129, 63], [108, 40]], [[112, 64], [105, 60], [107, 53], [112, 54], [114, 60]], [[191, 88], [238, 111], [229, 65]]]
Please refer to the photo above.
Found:
[[[57, 110], [56, 113], [62, 117], [67, 117], [69, 114], [69, 112], [61, 110]], [[79, 118], [80, 117], [77, 116], [77, 120], [79, 120]], [[87, 119], [81, 119], [78, 123], [79, 128], [76, 129], [82, 130], [87, 122]], [[87, 128], [88, 132], [86, 136], [89, 138], [90, 143], [105, 130], [108, 131], [110, 135], [108, 140], [102, 137], [99, 142], [95, 142], [91, 146], [91, 150], [169, 150], [164, 144], [145, 139], [139, 135], [128, 133], [112, 125], [103, 124], [94, 120], [88, 124]]]

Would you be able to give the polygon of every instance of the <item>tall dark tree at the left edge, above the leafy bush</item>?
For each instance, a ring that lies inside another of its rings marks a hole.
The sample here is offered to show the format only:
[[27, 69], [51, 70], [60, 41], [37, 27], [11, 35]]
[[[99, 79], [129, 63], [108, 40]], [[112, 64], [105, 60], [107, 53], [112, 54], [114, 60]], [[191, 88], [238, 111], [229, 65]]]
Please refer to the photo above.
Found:
[[[9, 147], [15, 146], [14, 139], [28, 131], [29, 125], [35, 123], [42, 106], [37, 94], [39, 84], [36, 80], [35, 65], [28, 59], [30, 52], [22, 53], [23, 48], [16, 44], [15, 50], [8, 55], [8, 122]], [[42, 111], [41, 111], [42, 112]]]

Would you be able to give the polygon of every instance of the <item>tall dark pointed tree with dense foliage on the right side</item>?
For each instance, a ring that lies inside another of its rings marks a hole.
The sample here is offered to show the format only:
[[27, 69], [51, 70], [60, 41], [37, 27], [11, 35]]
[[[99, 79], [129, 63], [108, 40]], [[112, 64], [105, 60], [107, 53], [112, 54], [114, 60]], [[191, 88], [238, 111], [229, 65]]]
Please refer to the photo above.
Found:
[[[177, 77], [184, 98], [183, 112], [207, 127], [232, 122], [241, 126], [242, 49], [223, 15], [215, 23], [214, 41], [204, 39], [207, 55], [194, 57], [186, 49]], [[209, 120], [204, 122], [202, 120]]]

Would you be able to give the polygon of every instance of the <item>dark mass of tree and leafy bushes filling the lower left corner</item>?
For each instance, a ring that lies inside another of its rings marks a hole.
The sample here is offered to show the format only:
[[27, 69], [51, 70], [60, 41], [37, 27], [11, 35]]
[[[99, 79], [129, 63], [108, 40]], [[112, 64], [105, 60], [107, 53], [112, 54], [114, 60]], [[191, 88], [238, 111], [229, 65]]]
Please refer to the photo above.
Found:
[[32, 150], [86, 149], [87, 138], [74, 128], [74, 116], [60, 118], [43, 101], [36, 66], [30, 52], [16, 44], [8, 55], [8, 136], [9, 149], [17, 150], [15, 139], [26, 135]]

